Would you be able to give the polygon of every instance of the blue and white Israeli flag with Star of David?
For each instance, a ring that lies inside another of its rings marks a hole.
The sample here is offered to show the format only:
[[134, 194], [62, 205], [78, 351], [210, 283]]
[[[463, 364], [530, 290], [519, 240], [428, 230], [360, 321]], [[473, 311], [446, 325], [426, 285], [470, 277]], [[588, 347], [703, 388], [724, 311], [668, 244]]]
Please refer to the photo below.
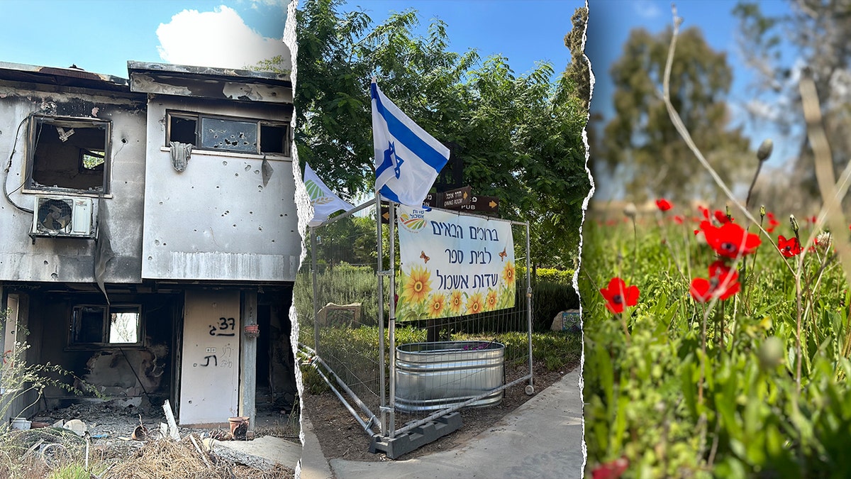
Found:
[[375, 191], [383, 199], [421, 207], [437, 173], [449, 159], [449, 148], [426, 133], [370, 85], [375, 148]]

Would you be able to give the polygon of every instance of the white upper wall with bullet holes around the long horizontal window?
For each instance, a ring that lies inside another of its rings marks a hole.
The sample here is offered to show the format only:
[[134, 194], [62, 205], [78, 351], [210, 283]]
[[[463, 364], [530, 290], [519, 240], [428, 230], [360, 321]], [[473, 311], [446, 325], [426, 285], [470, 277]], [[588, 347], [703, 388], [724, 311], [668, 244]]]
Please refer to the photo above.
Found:
[[182, 172], [167, 147], [168, 111], [288, 121], [282, 105], [154, 95], [148, 103], [142, 276], [292, 281], [301, 237], [292, 159], [193, 149]]

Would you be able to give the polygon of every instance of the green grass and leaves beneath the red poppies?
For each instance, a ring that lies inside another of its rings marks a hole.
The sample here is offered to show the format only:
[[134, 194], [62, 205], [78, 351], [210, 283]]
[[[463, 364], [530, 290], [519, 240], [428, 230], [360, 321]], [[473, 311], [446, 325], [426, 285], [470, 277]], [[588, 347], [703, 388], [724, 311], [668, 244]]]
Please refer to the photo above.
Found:
[[[631, 223], [585, 224], [590, 470], [626, 457], [624, 477], [851, 476], [851, 458], [838, 445], [851, 440], [851, 302], [836, 263], [820, 273], [819, 258], [807, 257], [802, 283], [812, 281], [799, 336], [795, 278], [785, 263], [797, 265], [764, 237], [745, 261], [742, 291], [709, 310], [689, 295], [690, 281], [705, 278], [716, 259], [695, 239], [696, 224], [646, 221], [637, 234]], [[777, 234], [793, 235], [789, 227]], [[608, 312], [598, 291], [614, 276], [641, 291], [622, 316]]]

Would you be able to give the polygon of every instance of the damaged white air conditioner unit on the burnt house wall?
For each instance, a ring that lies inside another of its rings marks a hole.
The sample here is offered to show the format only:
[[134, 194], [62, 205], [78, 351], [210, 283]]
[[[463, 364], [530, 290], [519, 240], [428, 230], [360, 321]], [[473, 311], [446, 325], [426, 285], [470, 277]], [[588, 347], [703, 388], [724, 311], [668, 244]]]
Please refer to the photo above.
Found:
[[36, 196], [30, 236], [94, 238], [92, 199]]

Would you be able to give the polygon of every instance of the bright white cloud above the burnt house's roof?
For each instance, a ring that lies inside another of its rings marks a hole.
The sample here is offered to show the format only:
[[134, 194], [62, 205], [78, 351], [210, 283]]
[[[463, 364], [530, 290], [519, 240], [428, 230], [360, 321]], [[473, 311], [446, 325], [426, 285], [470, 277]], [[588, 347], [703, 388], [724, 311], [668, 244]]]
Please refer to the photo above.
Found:
[[261, 36], [225, 5], [213, 12], [183, 10], [157, 27], [157, 38], [160, 58], [168, 63], [243, 68], [283, 55], [284, 65], [291, 65], [281, 38]]

